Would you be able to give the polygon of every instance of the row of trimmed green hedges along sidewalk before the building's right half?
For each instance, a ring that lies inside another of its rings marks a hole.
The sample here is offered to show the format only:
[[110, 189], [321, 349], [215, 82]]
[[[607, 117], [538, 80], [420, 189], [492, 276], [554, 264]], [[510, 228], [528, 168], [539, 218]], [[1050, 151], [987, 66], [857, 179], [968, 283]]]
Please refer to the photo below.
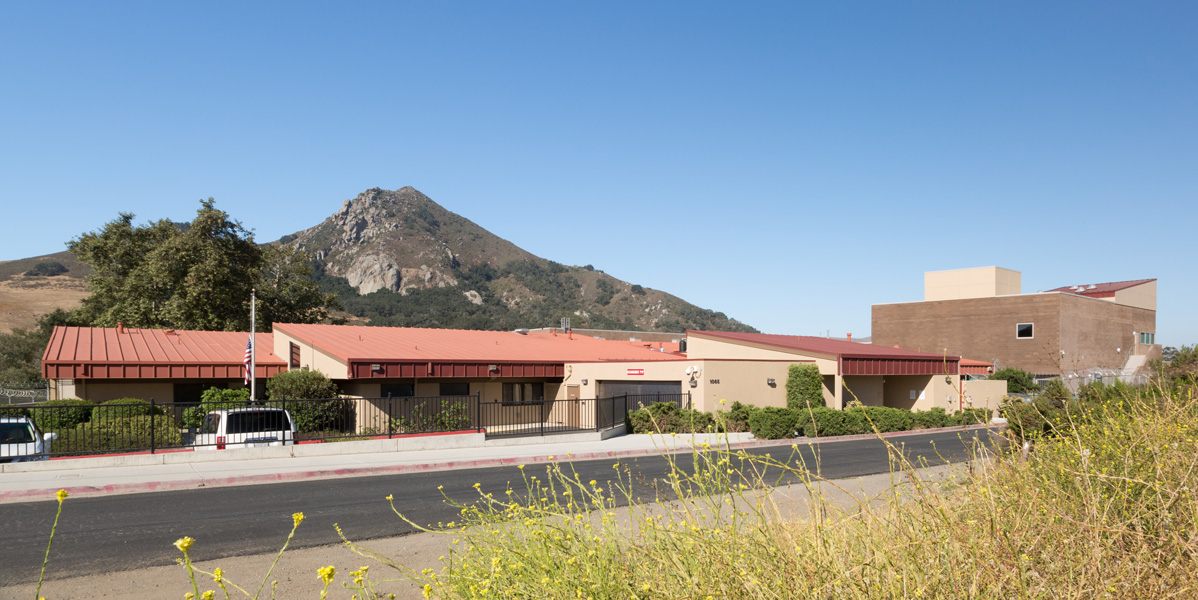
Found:
[[949, 428], [986, 423], [990, 418], [991, 411], [985, 408], [966, 408], [949, 414], [944, 408], [912, 412], [883, 406], [857, 406], [836, 411], [824, 407], [757, 408], [740, 402], [733, 402], [730, 411], [720, 411], [713, 416], [662, 402], [629, 412], [628, 430], [633, 434], [750, 431], [762, 440], [780, 440]]

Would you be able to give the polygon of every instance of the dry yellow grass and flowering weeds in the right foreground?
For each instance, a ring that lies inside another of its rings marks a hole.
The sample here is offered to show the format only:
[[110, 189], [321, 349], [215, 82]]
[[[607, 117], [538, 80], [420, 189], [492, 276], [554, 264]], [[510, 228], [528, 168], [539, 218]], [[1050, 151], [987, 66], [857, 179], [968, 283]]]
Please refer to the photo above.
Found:
[[[436, 598], [1198, 598], [1193, 394], [1138, 390], [1058, 426], [1030, 460], [945, 483], [895, 454], [916, 483], [847, 508], [804, 467], [714, 448], [676, 465], [672, 510], [618, 520], [627, 477], [603, 489], [553, 466], [520, 493], [479, 490], [442, 571], [406, 576]], [[805, 519], [756, 487], [780, 469], [807, 483]]]

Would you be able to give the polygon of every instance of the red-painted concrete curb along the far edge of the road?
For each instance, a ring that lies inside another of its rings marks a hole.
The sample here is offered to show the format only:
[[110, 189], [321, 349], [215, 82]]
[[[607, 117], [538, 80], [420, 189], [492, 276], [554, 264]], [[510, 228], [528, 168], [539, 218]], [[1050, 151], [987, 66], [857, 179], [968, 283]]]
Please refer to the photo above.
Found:
[[[930, 432], [948, 432], [948, 431], [970, 431], [978, 429], [986, 429], [987, 425], [967, 425], [967, 426], [955, 426], [955, 428], [940, 428], [940, 429], [921, 429], [915, 431], [893, 431], [888, 434], [881, 434], [883, 438], [890, 437], [904, 437], [913, 435], [924, 435]], [[666, 436], [661, 436], [662, 438]], [[688, 435], [671, 436], [673, 440], [683, 438], [686, 441]], [[712, 444], [713, 448], [727, 448], [731, 450], [739, 450], [746, 448], [767, 448], [767, 447], [789, 447], [795, 444], [815, 444], [815, 443], [835, 443], [835, 442], [848, 442], [853, 440], [876, 440], [877, 434], [859, 434], [852, 436], [837, 436], [837, 437], [794, 437], [789, 440], [758, 440], [748, 442], [733, 442], [733, 443], [719, 443]], [[665, 440], [662, 440], [665, 442]], [[41, 501], [41, 499], [53, 499], [54, 492], [58, 490], [66, 490], [71, 496], [103, 496], [110, 493], [138, 493], [138, 492], [153, 492], [153, 491], [171, 491], [171, 490], [190, 490], [195, 487], [212, 487], [212, 486], [228, 486], [228, 485], [252, 485], [252, 484], [266, 484], [266, 483], [284, 483], [284, 481], [303, 481], [309, 479], [331, 479], [339, 477], [363, 477], [363, 475], [385, 475], [385, 474], [400, 474], [400, 473], [423, 473], [423, 472], [435, 472], [435, 471], [453, 471], [464, 468], [486, 468], [486, 467], [502, 467], [502, 466], [516, 466], [516, 465], [537, 465], [537, 463], [550, 463], [550, 462], [570, 462], [570, 461], [582, 461], [582, 460], [600, 460], [600, 459], [623, 459], [630, 456], [664, 456], [672, 454], [682, 454], [692, 451], [700, 444], [682, 446], [678, 443], [673, 444], [673, 448], [667, 448], [665, 443], [662, 447], [655, 448], [636, 448], [627, 450], [609, 450], [609, 451], [588, 451], [588, 453], [567, 453], [563, 455], [537, 455], [537, 456], [507, 456], [501, 459], [477, 459], [477, 460], [456, 460], [456, 461], [441, 461], [441, 462], [426, 462], [419, 465], [388, 465], [380, 467], [346, 467], [346, 468], [316, 468], [310, 471], [292, 471], [283, 473], [262, 473], [253, 475], [235, 475], [235, 477], [222, 477], [222, 478], [204, 478], [194, 477], [189, 479], [177, 479], [171, 481], [139, 481], [129, 484], [110, 484], [103, 486], [81, 485], [81, 486], [61, 486], [56, 485], [53, 487], [41, 487], [35, 490], [12, 490], [12, 491], [0, 491], [0, 503], [10, 502], [29, 502], [29, 501]]]

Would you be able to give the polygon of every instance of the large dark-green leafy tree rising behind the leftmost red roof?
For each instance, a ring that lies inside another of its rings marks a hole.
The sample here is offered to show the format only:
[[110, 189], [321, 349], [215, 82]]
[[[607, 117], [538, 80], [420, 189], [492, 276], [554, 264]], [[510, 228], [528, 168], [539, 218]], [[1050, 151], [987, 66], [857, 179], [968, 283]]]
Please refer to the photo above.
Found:
[[[253, 232], [200, 201], [186, 224], [134, 225], [121, 213], [97, 232], [67, 244], [92, 267], [91, 291], [77, 316], [92, 326], [249, 329], [250, 290], [264, 292], [260, 323], [317, 322], [331, 296], [320, 293], [308, 257], [295, 249], [262, 248]], [[266, 329], [267, 327], [262, 327]]]

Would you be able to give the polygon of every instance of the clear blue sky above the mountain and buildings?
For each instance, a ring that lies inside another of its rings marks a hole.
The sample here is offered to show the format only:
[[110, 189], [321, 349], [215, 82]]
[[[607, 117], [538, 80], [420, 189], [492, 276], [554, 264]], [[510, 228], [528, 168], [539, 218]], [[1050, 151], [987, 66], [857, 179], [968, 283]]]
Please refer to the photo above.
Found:
[[4, 2], [0, 260], [208, 196], [268, 241], [413, 186], [769, 333], [864, 337], [925, 271], [997, 265], [1158, 278], [1157, 340], [1194, 344], [1196, 29], [1193, 2]]

